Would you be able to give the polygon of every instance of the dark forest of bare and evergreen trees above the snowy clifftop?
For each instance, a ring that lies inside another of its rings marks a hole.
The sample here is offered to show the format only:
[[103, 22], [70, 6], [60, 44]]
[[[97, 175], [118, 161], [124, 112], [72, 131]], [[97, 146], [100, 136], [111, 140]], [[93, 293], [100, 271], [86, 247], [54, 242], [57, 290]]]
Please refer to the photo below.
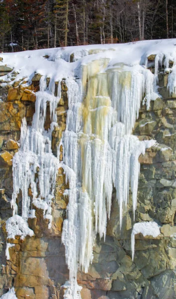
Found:
[[176, 0], [0, 0], [0, 51], [176, 37]]

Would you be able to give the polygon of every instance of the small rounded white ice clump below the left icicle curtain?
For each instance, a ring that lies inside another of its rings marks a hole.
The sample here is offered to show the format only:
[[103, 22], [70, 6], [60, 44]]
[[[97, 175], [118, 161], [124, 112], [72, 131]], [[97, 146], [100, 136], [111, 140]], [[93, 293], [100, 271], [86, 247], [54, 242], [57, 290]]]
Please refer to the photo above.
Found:
[[6, 232], [7, 239], [15, 239], [15, 236], [20, 236], [23, 240], [26, 236], [34, 235], [27, 222], [19, 215], [14, 215], [6, 221]]

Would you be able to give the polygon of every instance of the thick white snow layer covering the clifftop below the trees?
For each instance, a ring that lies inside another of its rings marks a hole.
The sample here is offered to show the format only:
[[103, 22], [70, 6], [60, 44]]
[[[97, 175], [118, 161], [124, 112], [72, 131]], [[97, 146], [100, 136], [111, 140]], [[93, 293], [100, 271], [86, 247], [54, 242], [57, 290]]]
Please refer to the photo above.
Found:
[[[121, 64], [125, 64], [126, 67], [129, 66], [130, 68], [139, 68], [139, 65], [141, 65], [140, 68], [143, 69], [146, 66], [147, 57], [151, 54], [158, 54], [160, 56], [162, 53], [167, 61], [169, 59], [175, 61], [175, 44], [176, 39], [163, 39], [137, 41], [127, 44], [86, 45], [1, 53], [0, 57], [3, 58], [3, 61], [0, 62], [0, 65], [7, 64], [19, 72], [15, 81], [22, 77], [26, 77], [30, 81], [34, 72], [48, 77], [52, 76], [55, 81], [58, 81], [59, 79], [62, 80], [62, 78], [69, 78], [72, 75], [79, 76], [81, 65], [101, 58], [109, 59], [107, 69], [115, 68]], [[72, 53], [75, 53], [74, 57], [77, 60], [69, 63]], [[45, 59], [43, 57], [45, 55], [48, 55], [49, 58]], [[157, 61], [158, 59], [156, 59]], [[160, 63], [160, 60], [158, 62]], [[170, 76], [173, 76], [173, 80], [175, 80], [175, 76], [172, 73]], [[3, 76], [2, 79], [6, 80], [7, 75]]]

